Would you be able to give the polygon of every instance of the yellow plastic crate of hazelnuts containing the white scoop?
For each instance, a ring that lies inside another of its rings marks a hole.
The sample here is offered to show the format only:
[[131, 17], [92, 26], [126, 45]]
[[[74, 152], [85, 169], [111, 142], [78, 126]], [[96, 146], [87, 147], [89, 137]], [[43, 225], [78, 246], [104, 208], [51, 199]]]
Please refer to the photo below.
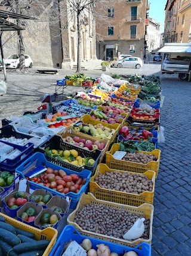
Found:
[[[104, 206], [113, 206], [115, 208], [118, 208], [119, 210], [127, 210], [128, 212], [137, 213], [137, 214], [143, 215], [145, 218], [149, 218], [150, 219], [149, 239], [146, 240], [146, 239], [139, 238], [134, 241], [128, 241], [128, 240], [124, 240], [124, 239], [118, 239], [115, 237], [105, 236], [103, 234], [98, 234], [98, 233], [94, 233], [91, 231], [83, 230], [81, 227], [79, 227], [78, 224], [76, 224], [76, 222], [74, 222], [75, 214], [79, 209], [81, 209], [82, 206], [84, 206], [84, 204], [91, 204], [91, 203], [103, 204]], [[131, 247], [140, 245], [140, 243], [143, 243], [143, 242], [150, 243], [150, 245], [151, 245], [153, 212], [154, 212], [154, 207], [152, 206], [152, 204], [145, 203], [138, 207], [128, 206], [125, 204], [118, 204], [118, 203], [112, 203], [109, 201], [98, 200], [91, 193], [88, 193], [88, 194], [83, 193], [81, 195], [81, 198], [79, 199], [77, 206], [76, 206], [76, 210], [74, 210], [72, 213], [70, 213], [70, 215], [67, 217], [67, 223], [69, 225], [73, 225], [75, 228], [77, 228], [77, 230], [79, 230], [79, 232], [81, 234], [83, 234], [84, 236], [90, 236], [90, 237], [94, 237], [97, 239], [106, 240], [106, 241], [109, 241], [112, 243], [117, 243], [119, 245], [125, 245], [125, 246], [131, 246]]]

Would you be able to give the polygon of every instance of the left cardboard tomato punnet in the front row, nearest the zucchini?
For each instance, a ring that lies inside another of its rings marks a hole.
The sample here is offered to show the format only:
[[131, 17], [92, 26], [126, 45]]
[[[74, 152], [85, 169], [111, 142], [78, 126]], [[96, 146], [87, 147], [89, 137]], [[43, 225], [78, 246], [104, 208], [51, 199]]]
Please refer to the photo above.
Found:
[[26, 203], [24, 204], [19, 210], [17, 210], [17, 219], [18, 221], [21, 221], [23, 222], [24, 224], [28, 224], [28, 225], [31, 225], [31, 226], [34, 226], [35, 224], [35, 220], [34, 221], [24, 221], [24, 219], [21, 219], [20, 216], [23, 212], [26, 211], [26, 209], [28, 209], [29, 207], [33, 207], [35, 210], [36, 210], [36, 217], [39, 215], [39, 213], [42, 211], [42, 206], [40, 204], [36, 204], [36, 203], [33, 203], [33, 202], [29, 202], [29, 203]]

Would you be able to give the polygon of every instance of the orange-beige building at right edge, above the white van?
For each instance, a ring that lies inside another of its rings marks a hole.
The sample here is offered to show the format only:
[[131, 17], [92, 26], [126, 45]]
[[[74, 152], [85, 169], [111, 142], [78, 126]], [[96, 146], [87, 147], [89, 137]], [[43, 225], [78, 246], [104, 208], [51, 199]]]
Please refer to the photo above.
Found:
[[167, 0], [164, 43], [191, 43], [191, 2]]

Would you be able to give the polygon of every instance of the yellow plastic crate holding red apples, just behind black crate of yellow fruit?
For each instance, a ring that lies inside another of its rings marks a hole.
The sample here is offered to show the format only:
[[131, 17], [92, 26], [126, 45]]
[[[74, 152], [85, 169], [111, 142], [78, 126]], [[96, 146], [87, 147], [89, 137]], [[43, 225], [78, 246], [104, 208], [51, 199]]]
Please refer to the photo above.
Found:
[[[79, 137], [79, 138], [84, 138], [84, 140], [89, 140], [90, 139], [90, 136], [88, 136], [87, 134], [79, 134], [75, 131], [73, 131], [72, 127], [66, 127], [66, 129], [64, 129], [63, 132], [60, 132], [58, 135], [60, 135], [62, 138], [66, 138], [67, 136], [70, 136], [70, 137]], [[103, 139], [98, 139], [98, 138], [94, 138], [92, 137], [91, 138], [91, 141], [95, 142], [96, 140], [99, 140], [100, 143], [103, 142], [106, 146], [104, 147], [103, 150], [101, 150], [101, 158], [100, 158], [100, 161], [102, 161], [106, 151], [109, 149], [109, 140], [107, 140], [106, 138], [103, 138]]]

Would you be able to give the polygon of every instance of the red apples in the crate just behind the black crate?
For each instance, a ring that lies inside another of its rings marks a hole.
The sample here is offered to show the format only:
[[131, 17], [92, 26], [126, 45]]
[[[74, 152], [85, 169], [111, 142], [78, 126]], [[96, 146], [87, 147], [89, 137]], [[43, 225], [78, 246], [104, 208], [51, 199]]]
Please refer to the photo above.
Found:
[[96, 149], [103, 150], [104, 147], [106, 146], [106, 144], [98, 140], [96, 141], [91, 141], [89, 139], [85, 140], [84, 138], [79, 138], [77, 136], [73, 138], [70, 136], [67, 136], [66, 138], [63, 138], [63, 140], [66, 141], [67, 143], [73, 144], [78, 147], [82, 147], [83, 149], [90, 150], [90, 151], [96, 150]]

